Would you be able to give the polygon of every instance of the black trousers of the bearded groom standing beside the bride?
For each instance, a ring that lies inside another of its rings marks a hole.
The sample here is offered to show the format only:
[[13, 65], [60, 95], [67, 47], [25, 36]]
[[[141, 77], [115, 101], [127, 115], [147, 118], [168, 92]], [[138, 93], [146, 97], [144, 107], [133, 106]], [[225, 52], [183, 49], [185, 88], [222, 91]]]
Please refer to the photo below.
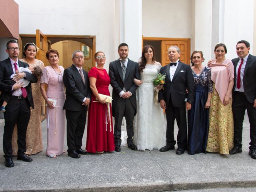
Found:
[[129, 99], [119, 98], [116, 106], [114, 107], [115, 113], [115, 125], [114, 125], [114, 140], [115, 145], [121, 145], [121, 126], [123, 117], [126, 120], [126, 130], [127, 130], [127, 144], [133, 144], [133, 119], [135, 114], [135, 108], [132, 106], [132, 103]]

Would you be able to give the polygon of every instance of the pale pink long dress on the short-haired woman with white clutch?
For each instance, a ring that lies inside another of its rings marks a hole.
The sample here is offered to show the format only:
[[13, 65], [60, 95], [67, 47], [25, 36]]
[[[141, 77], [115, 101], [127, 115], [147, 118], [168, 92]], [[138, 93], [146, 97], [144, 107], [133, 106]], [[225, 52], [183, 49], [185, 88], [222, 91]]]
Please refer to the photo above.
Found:
[[65, 135], [65, 91], [63, 83], [64, 68], [59, 66], [61, 73], [54, 71], [52, 66], [46, 66], [43, 69], [41, 83], [48, 84], [46, 95], [49, 99], [56, 100], [55, 108], [47, 108], [47, 148], [46, 155], [60, 155], [64, 148]]

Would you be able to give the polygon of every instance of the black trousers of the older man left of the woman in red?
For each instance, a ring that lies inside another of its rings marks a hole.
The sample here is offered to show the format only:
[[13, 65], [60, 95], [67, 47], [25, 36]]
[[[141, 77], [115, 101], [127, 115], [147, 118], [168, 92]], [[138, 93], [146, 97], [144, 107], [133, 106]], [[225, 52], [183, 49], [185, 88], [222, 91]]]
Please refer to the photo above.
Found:
[[86, 111], [66, 110], [68, 152], [80, 149], [86, 124]]

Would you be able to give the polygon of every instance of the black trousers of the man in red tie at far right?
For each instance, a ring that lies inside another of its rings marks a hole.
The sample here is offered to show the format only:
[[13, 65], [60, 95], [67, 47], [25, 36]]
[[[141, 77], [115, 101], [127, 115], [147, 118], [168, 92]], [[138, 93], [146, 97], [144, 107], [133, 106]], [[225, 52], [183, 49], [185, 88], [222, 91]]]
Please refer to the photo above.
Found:
[[233, 92], [232, 110], [234, 116], [234, 146], [242, 147], [242, 132], [245, 109], [250, 122], [250, 146], [256, 149], [256, 108], [253, 103], [248, 102], [243, 92]]

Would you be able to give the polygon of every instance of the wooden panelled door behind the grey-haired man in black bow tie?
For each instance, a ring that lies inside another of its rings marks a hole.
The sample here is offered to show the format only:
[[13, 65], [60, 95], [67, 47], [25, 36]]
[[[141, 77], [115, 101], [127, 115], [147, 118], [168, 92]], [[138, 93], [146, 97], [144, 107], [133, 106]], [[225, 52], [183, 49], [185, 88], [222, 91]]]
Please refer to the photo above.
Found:
[[168, 58], [168, 48], [177, 46], [180, 49], [180, 61], [190, 64], [190, 41], [189, 40], [163, 40], [162, 41], [162, 66], [170, 63]]

